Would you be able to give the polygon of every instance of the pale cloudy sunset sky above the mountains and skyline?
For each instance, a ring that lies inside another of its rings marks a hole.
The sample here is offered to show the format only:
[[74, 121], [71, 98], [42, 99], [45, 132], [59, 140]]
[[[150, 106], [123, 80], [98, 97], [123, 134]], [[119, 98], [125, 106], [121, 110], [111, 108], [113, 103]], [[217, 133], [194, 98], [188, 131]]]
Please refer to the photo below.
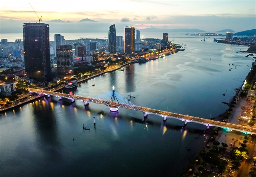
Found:
[[[111, 24], [116, 24], [117, 31], [127, 25], [141, 30], [197, 28], [207, 32], [256, 28], [256, 0], [3, 0], [0, 33], [22, 32], [24, 22], [36, 22], [30, 4], [42, 16], [42, 22], [56, 32], [77, 32], [70, 26], [102, 32], [100, 26], [107, 28]], [[84, 18], [97, 24], [79, 24]], [[72, 25], [49, 22], [56, 19], [69, 20]]]

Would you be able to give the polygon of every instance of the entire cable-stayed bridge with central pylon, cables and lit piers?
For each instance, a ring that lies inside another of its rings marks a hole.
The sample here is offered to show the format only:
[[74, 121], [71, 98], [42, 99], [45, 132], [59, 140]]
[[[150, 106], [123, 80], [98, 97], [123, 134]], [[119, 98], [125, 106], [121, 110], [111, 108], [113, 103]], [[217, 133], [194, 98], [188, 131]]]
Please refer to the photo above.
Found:
[[110, 108], [110, 111], [118, 111], [118, 108], [120, 107], [125, 109], [135, 110], [135, 111], [141, 111], [144, 114], [144, 118], [146, 118], [148, 114], [155, 114], [163, 117], [163, 121], [166, 121], [167, 118], [173, 118], [173, 119], [184, 121], [184, 125], [187, 125], [188, 122], [194, 122], [194, 123], [200, 123], [200, 124], [206, 125], [207, 127], [206, 129], [209, 129], [211, 126], [214, 126], [214, 127], [221, 127], [227, 131], [235, 130], [235, 131], [243, 132], [245, 134], [256, 134], [256, 128], [254, 127], [235, 125], [233, 123], [226, 123], [221, 121], [204, 119], [200, 117], [194, 117], [190, 115], [183, 115], [179, 113], [172, 113], [168, 111], [162, 111], [162, 110], [151, 109], [148, 107], [134, 105], [133, 103], [130, 102], [130, 96], [128, 97], [128, 100], [127, 100], [122, 95], [115, 92], [114, 86], [112, 91], [109, 91], [107, 93], [104, 93], [102, 95], [98, 95], [92, 98], [78, 96], [78, 95], [70, 95], [66, 93], [59, 93], [54, 91], [47, 91], [42, 89], [28, 88], [28, 91], [30, 91], [30, 93], [32, 92], [41, 93], [41, 94], [47, 95], [48, 97], [50, 97], [50, 95], [55, 96], [55, 97], [58, 97], [59, 99], [67, 98], [67, 99], [70, 99], [71, 102], [75, 100], [79, 100], [79, 101], [83, 101], [84, 105], [88, 105], [89, 102], [104, 104], [104, 105], [108, 105], [108, 107]]

